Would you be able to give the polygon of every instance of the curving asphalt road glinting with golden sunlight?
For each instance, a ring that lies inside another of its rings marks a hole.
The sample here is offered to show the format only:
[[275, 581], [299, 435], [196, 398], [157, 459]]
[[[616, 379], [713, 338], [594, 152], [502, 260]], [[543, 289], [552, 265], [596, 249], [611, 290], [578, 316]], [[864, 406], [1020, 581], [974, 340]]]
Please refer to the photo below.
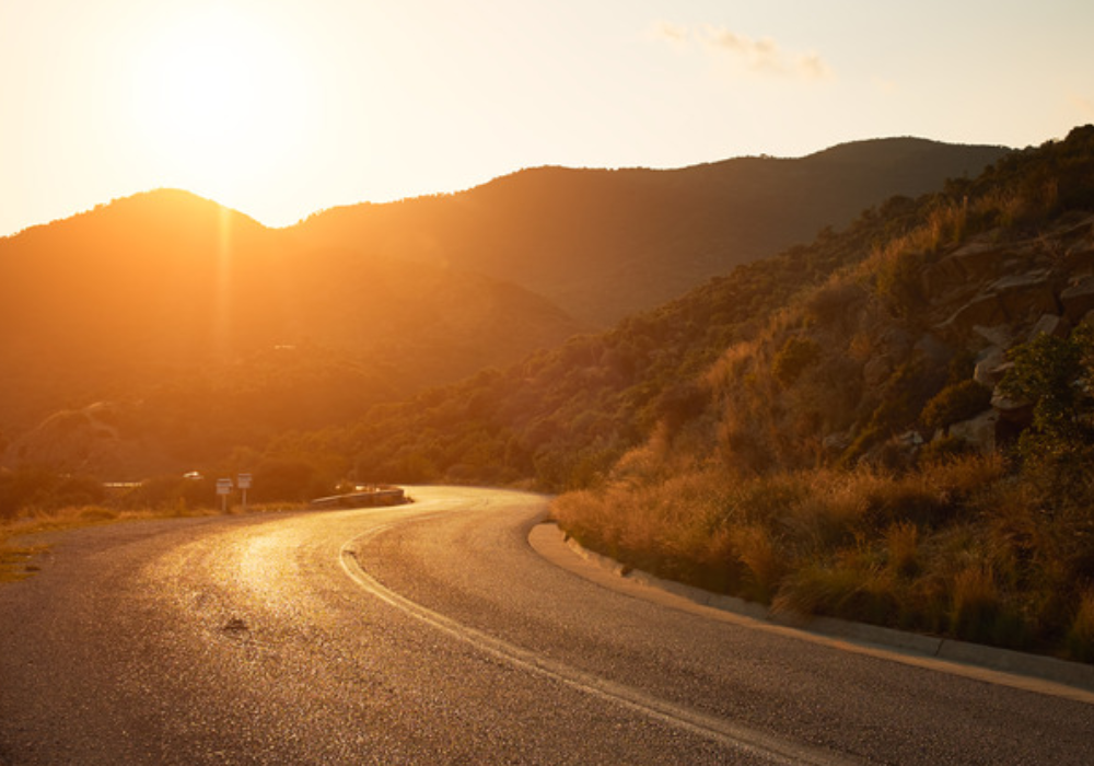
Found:
[[[0, 587], [0, 764], [1083, 764], [1094, 696], [537, 554], [539, 497], [63, 533]], [[607, 583], [610, 585], [610, 583]]]

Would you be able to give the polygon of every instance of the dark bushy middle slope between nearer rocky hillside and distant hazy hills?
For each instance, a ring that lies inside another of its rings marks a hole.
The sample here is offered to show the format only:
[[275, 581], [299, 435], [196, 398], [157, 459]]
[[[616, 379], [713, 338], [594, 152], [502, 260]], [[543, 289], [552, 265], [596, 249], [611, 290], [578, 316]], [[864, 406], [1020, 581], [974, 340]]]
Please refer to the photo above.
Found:
[[306, 445], [280, 446], [337, 456], [361, 481], [595, 485], [660, 420], [706, 406], [699, 381], [726, 348], [756, 337], [798, 292], [865, 258], [875, 242], [913, 229], [930, 204], [893, 198], [846, 231], [738, 266], [610, 330], [376, 407]]

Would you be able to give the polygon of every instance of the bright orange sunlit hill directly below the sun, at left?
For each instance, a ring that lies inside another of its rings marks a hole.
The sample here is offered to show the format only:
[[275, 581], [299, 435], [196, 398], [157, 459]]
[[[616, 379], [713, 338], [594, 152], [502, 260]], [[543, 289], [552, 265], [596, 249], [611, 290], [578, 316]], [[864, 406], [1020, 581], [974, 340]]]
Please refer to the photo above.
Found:
[[117, 468], [127, 461], [107, 460], [101, 441], [67, 453], [72, 439], [22, 438], [105, 401], [141, 439], [127, 454], [186, 465], [345, 421], [580, 328], [512, 285], [307, 247], [153, 192], [0, 241], [0, 433], [20, 442], [9, 464]]

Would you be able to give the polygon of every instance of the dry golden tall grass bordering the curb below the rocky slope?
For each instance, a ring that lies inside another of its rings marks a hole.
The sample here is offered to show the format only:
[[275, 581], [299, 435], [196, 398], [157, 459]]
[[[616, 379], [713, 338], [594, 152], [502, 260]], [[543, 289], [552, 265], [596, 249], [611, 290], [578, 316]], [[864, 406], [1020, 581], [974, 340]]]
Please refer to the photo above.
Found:
[[563, 495], [552, 512], [631, 566], [777, 611], [1094, 660], [1094, 588], [998, 457], [900, 475], [693, 466]]

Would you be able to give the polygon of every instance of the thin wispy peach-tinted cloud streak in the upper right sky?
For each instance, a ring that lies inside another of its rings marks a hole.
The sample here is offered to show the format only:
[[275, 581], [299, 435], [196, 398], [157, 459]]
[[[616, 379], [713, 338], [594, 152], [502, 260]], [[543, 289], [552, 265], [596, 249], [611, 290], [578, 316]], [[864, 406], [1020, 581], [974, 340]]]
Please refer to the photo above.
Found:
[[698, 42], [712, 55], [729, 56], [754, 74], [811, 82], [834, 77], [831, 67], [819, 54], [783, 50], [771, 37], [754, 39], [713, 24], [689, 28], [667, 21], [656, 22], [654, 34], [674, 45]]

